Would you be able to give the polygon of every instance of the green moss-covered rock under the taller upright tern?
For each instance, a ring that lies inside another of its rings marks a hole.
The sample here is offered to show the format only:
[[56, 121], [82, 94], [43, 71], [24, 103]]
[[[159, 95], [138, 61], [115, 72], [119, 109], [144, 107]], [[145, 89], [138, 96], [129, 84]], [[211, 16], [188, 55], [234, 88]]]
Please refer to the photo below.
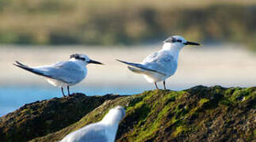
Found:
[[220, 86], [119, 96], [85, 113], [73, 124], [31, 141], [61, 140], [68, 133], [101, 120], [117, 105], [127, 109], [117, 141], [255, 141], [255, 98], [256, 88]]

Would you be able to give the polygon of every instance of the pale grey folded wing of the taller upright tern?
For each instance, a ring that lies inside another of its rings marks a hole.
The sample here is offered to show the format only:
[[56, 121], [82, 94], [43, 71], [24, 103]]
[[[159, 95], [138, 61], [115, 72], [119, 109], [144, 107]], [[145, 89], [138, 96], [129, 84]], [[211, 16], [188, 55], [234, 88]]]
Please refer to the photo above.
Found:
[[143, 60], [147, 68], [159, 70], [162, 73], [172, 74], [177, 69], [177, 62], [168, 52], [155, 52]]

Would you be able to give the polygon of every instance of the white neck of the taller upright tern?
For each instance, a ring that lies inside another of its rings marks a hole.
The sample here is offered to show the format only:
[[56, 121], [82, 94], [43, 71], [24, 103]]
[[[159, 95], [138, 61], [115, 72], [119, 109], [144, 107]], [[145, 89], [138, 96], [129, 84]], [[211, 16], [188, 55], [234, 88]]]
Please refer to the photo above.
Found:
[[162, 45], [162, 50], [169, 50], [170, 54], [178, 60], [178, 54], [182, 47], [184, 47], [184, 45], [178, 43], [164, 43]]

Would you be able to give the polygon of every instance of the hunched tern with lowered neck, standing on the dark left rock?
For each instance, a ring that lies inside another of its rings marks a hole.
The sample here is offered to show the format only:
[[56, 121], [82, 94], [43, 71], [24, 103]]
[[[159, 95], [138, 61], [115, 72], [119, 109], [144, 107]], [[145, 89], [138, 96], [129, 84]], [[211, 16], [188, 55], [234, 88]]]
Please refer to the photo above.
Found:
[[61, 88], [61, 92], [65, 97], [63, 88], [67, 87], [68, 96], [70, 96], [69, 87], [78, 84], [86, 77], [86, 65], [89, 63], [102, 64], [90, 59], [86, 54], [71, 54], [71, 58], [68, 61], [58, 62], [53, 65], [29, 67], [17, 61], [13, 65], [44, 77], [53, 86]]

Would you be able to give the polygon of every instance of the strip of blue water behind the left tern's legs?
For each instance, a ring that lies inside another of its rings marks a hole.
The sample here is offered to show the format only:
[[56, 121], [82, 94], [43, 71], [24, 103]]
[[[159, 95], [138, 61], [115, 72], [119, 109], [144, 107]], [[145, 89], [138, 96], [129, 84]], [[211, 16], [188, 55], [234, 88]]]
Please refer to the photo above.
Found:
[[[145, 90], [149, 90], [147, 87], [72, 87], [72, 92], [82, 92], [86, 95], [106, 95], [106, 94], [118, 94], [118, 95], [132, 95], [138, 94]], [[67, 94], [67, 90], [64, 90]], [[0, 87], [0, 117], [4, 114], [8, 114], [13, 110], [17, 110], [19, 107], [25, 105], [25, 103], [41, 101], [44, 99], [52, 99], [54, 97], [63, 97], [59, 88], [52, 86], [5, 86]]]

